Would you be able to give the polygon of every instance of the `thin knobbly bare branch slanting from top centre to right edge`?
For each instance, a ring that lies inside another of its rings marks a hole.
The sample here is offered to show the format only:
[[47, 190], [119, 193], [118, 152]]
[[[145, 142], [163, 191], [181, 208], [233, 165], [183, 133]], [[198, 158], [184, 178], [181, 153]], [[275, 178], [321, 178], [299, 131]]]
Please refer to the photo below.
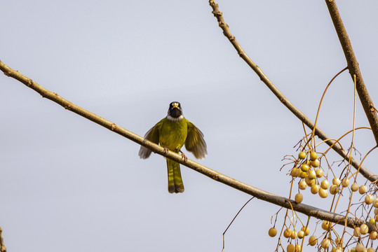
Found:
[[[266, 77], [266, 75], [259, 68], [259, 66], [257, 66], [257, 64], [255, 64], [255, 62], [253, 62], [252, 59], [250, 59], [250, 57], [248, 57], [248, 55], [244, 52], [243, 48], [241, 48], [241, 45], [238, 43], [238, 41], [236, 41], [236, 38], [231, 34], [229, 26], [226, 24], [226, 22], [224, 22], [224, 19], [223, 19], [223, 16], [222, 16], [222, 12], [220, 12], [218, 4], [215, 3], [214, 0], [210, 0], [209, 3], [210, 3], [210, 6], [212, 7], [212, 14], [215, 16], [215, 18], [217, 18], [219, 26], [223, 30], [224, 36], [226, 36], [229, 39], [229, 41], [231, 42], [231, 44], [234, 45], [234, 48], [238, 52], [238, 55], [242, 59], [244, 59], [244, 61], [250, 66], [250, 68], [253, 71], [255, 71], [255, 73], [257, 74], [257, 76], [259, 76], [260, 80], [262, 80], [262, 82], [265, 83], [265, 85], [267, 87], [269, 87], [269, 89], [271, 90], [271, 92], [273, 92], [276, 95], [276, 97], [283, 103], [283, 105], [285, 105], [295, 116], [297, 116], [297, 118], [299, 118], [299, 120], [301, 120], [305, 125], [307, 125], [307, 127], [309, 127], [311, 130], [313, 130], [313, 127], [315, 126], [314, 123], [311, 120], [309, 120], [309, 118], [307, 118], [304, 115], [304, 113], [302, 113], [302, 111], [300, 111], [299, 109], [297, 109], [280, 92], [280, 90], [278, 90], [278, 88], [271, 82], [271, 80], [269, 80], [269, 78]], [[345, 160], [350, 160], [351, 157], [349, 157], [348, 153], [346, 153], [346, 151], [344, 151], [344, 149], [341, 146], [335, 144], [335, 141], [330, 140], [330, 137], [328, 137], [327, 134], [325, 134], [317, 126], [315, 127], [315, 134], [320, 139], [322, 139], [323, 141], [325, 141], [325, 143], [328, 144], [328, 146], [331, 146], [332, 149], [335, 152], [337, 152], [339, 155], [342, 156], [342, 158], [344, 158]], [[356, 169], [359, 168], [360, 169], [360, 174], [362, 174], [366, 179], [368, 179], [372, 183], [377, 183], [378, 176], [374, 175], [372, 172], [370, 172], [370, 170], [368, 170], [365, 167], [363, 167], [362, 165], [360, 165], [360, 162], [358, 162], [356, 159], [351, 158], [351, 165], [354, 168], [356, 168]]]

